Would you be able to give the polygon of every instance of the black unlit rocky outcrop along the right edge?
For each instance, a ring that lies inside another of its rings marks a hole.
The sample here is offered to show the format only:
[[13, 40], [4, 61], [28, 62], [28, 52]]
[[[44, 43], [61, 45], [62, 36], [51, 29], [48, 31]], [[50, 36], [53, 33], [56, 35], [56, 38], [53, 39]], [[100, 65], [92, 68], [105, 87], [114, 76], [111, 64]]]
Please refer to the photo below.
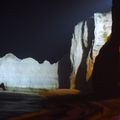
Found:
[[92, 75], [94, 91], [119, 96], [120, 91], [120, 4], [113, 0], [112, 35], [97, 56]]

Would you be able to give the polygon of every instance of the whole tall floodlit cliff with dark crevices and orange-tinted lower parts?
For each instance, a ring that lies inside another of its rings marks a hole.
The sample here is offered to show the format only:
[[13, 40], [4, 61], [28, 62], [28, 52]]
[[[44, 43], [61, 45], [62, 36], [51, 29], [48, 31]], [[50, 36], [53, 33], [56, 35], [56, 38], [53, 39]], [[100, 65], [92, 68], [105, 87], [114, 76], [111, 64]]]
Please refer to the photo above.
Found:
[[93, 18], [75, 26], [70, 50], [73, 68], [71, 88], [85, 88], [86, 80], [91, 78], [95, 58], [111, 33], [111, 26], [111, 12], [95, 13]]

